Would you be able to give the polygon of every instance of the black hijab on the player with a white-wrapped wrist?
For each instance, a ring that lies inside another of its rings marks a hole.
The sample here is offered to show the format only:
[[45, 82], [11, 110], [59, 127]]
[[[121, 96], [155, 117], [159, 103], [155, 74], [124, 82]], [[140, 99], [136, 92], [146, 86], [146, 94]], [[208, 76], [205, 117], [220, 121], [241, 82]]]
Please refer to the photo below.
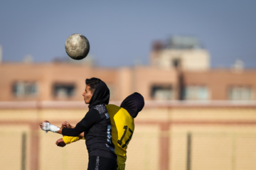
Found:
[[96, 105], [107, 105], [110, 101], [110, 89], [108, 89], [107, 85], [104, 81], [100, 81], [100, 84], [97, 85], [94, 93], [92, 94], [92, 98], [89, 103], [89, 108], [92, 108]]

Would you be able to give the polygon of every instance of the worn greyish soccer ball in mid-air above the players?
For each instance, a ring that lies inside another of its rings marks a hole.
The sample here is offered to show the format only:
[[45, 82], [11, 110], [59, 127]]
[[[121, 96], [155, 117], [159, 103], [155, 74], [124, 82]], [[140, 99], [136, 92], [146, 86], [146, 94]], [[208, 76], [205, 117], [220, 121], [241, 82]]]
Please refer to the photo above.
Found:
[[75, 33], [65, 42], [65, 51], [74, 60], [84, 59], [90, 51], [90, 44], [84, 35]]

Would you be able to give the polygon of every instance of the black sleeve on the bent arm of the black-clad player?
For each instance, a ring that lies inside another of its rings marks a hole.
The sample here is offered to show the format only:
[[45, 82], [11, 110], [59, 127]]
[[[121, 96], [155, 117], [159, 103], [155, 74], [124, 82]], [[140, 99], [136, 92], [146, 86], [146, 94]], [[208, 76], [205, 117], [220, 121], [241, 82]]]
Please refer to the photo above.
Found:
[[100, 113], [98, 113], [95, 109], [91, 109], [85, 115], [85, 118], [75, 125], [75, 128], [63, 128], [62, 134], [65, 136], [73, 136], [76, 137], [80, 135], [81, 132], [85, 132], [92, 127], [95, 123], [101, 120]]

